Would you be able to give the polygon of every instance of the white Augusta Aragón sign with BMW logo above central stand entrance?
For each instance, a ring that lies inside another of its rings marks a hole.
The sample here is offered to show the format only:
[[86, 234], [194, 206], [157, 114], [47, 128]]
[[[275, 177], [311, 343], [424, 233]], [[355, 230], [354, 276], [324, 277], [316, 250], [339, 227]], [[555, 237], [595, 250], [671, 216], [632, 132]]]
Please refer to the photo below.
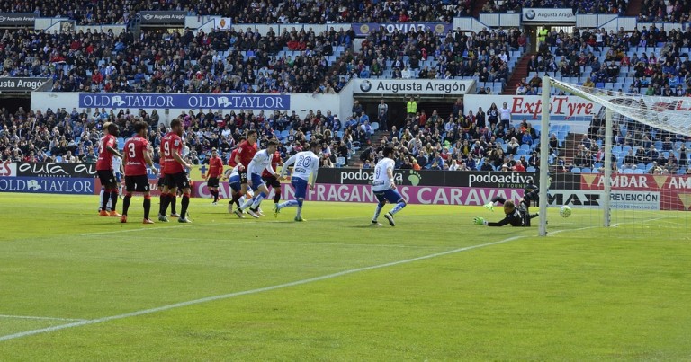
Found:
[[444, 79], [359, 79], [359, 94], [466, 94], [475, 93], [474, 80]]

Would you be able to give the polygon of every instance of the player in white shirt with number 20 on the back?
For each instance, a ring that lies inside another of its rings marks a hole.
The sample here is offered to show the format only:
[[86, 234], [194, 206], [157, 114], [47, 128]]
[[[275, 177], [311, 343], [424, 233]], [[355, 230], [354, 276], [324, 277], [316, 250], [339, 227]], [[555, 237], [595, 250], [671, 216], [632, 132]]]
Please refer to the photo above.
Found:
[[[310, 149], [292, 155], [281, 169], [279, 180], [283, 178], [288, 165], [294, 164], [292, 168], [291, 184], [295, 189], [295, 199], [285, 201], [282, 204], [274, 204], [274, 215], [278, 216], [283, 207], [298, 207], [295, 221], [307, 221], [302, 218], [302, 203], [305, 201], [307, 195], [307, 184], [310, 183], [310, 190], [314, 190], [314, 183], [317, 181], [317, 172], [319, 171], [319, 157], [315, 154], [319, 152], [319, 142], [310, 142]], [[310, 175], [312, 181], [310, 182]]]

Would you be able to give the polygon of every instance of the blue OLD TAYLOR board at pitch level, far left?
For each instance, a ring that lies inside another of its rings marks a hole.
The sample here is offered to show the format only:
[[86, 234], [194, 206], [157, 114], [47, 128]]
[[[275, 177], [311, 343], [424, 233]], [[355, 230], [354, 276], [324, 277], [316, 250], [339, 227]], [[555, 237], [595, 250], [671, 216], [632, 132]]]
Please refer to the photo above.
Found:
[[0, 177], [0, 192], [93, 195], [95, 179]]

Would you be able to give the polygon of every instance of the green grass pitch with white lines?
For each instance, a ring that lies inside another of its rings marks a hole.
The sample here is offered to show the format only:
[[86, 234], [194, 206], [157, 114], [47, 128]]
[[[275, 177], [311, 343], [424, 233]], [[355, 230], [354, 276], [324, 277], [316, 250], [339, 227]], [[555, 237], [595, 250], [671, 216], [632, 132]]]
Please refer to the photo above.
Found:
[[471, 225], [500, 217], [482, 207], [396, 227], [365, 204], [295, 223], [193, 199], [190, 225], [141, 225], [140, 197], [125, 225], [96, 207], [0, 194], [3, 361], [691, 359], [691, 244], [644, 223], [554, 208], [540, 238]]

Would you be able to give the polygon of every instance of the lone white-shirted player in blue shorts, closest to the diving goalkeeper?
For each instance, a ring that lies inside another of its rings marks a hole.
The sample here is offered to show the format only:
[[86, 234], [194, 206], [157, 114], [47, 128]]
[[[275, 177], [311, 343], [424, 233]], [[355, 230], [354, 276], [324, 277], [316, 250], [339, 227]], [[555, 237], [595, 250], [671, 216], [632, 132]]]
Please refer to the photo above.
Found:
[[372, 226], [381, 226], [377, 222], [377, 218], [379, 218], [381, 208], [386, 205], [386, 201], [396, 204], [384, 215], [389, 220], [389, 225], [396, 226], [393, 216], [402, 210], [403, 207], [406, 207], [406, 200], [396, 190], [396, 182], [393, 180], [393, 167], [395, 164], [393, 161], [393, 147], [385, 146], [382, 154], [384, 158], [374, 166], [374, 180], [372, 180], [372, 192], [374, 192], [374, 196], [379, 201], [377, 209], [374, 211], [374, 217], [372, 217]]

